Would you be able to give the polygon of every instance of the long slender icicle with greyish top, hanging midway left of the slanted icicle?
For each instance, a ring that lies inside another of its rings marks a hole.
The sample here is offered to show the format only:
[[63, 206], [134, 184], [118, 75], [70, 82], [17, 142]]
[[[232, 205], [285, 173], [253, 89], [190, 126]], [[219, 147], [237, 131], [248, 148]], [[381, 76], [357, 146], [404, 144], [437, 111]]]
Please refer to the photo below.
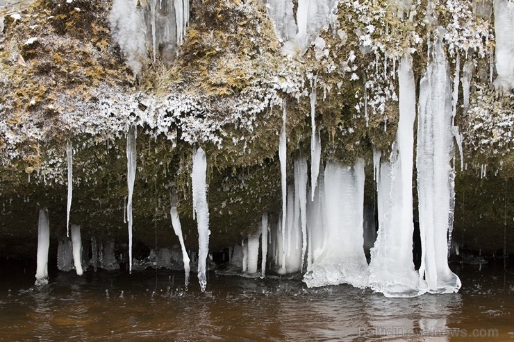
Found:
[[132, 273], [132, 195], [134, 192], [135, 170], [138, 155], [135, 150], [138, 131], [132, 126], [126, 134], [126, 183], [128, 198], [126, 203], [126, 218], [128, 221], [128, 272]]

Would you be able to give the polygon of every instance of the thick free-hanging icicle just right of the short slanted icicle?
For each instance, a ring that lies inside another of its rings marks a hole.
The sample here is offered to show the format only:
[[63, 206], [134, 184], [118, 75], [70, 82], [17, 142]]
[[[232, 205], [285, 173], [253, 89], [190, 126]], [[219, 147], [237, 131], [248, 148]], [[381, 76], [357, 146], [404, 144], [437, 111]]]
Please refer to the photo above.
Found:
[[209, 208], [207, 205], [207, 157], [203, 148], [193, 155], [192, 165], [192, 197], [193, 209], [198, 225], [198, 280], [201, 291], [207, 287], [206, 263], [209, 250]]

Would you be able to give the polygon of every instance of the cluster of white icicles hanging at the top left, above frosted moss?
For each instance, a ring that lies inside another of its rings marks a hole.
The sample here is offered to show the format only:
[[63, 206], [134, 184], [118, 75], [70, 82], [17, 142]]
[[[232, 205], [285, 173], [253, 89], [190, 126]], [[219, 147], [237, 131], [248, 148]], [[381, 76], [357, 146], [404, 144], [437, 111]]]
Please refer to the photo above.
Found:
[[174, 60], [189, 12], [189, 0], [114, 0], [109, 15], [111, 35], [134, 76], [140, 75], [148, 59], [147, 49], [154, 61], [160, 58], [169, 64]]

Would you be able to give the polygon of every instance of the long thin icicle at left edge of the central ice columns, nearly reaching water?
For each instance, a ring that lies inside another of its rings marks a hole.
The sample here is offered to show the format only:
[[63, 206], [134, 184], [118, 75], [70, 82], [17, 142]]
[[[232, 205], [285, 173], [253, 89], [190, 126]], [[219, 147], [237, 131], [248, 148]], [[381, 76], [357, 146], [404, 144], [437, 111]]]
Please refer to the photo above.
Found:
[[[280, 175], [281, 175], [281, 187], [282, 187], [282, 253], [285, 253], [285, 216], [287, 213], [287, 191], [288, 191], [288, 174], [287, 174], [287, 137], [285, 136], [285, 122], [287, 121], [288, 114], [285, 109], [285, 100], [282, 103], [282, 129], [280, 132], [280, 142], [279, 142], [279, 160], [280, 160]], [[281, 268], [279, 269], [279, 273], [284, 274], [285, 271], [285, 257], [282, 257]]]

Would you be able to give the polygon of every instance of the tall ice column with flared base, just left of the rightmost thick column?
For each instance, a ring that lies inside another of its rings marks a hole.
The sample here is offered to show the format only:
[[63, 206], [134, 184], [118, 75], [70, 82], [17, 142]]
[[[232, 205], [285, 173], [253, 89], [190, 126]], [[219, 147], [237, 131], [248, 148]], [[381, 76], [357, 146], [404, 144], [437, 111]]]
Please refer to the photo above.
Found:
[[386, 297], [424, 293], [413, 264], [413, 146], [415, 82], [411, 55], [398, 69], [399, 123], [388, 162], [374, 153], [378, 192], [379, 234], [370, 250], [370, 287]]

